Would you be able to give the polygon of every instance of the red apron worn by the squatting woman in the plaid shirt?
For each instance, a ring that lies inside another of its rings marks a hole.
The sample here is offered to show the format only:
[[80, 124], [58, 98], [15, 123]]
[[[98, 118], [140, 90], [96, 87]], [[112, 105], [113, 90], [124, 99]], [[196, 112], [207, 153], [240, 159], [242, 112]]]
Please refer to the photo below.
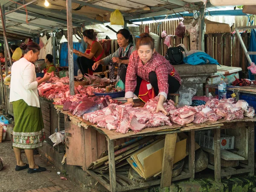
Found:
[[[172, 72], [169, 75], [174, 76], [174, 74], [175, 74], [175, 69], [173, 68]], [[146, 103], [146, 102], [148, 102], [149, 99], [153, 99], [155, 96], [156, 96], [156, 94], [154, 92], [154, 88], [152, 87], [152, 85], [143, 79], [140, 84], [140, 90], [139, 90], [138, 97], [143, 102]]]

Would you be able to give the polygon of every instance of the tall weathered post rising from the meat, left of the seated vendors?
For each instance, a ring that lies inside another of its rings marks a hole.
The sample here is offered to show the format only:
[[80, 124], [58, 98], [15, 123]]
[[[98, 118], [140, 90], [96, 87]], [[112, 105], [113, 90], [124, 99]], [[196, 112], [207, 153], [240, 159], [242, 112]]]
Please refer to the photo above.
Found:
[[67, 2], [67, 47], [68, 47], [70, 95], [75, 95], [74, 58], [73, 58], [72, 1], [67, 0], [66, 2]]

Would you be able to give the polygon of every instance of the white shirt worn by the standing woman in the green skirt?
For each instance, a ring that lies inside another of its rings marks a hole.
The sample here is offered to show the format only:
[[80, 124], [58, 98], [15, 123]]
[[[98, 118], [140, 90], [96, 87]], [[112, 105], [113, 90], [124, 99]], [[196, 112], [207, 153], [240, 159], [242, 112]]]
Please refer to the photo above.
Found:
[[12, 65], [10, 102], [23, 99], [29, 106], [40, 108], [35, 65], [20, 58]]

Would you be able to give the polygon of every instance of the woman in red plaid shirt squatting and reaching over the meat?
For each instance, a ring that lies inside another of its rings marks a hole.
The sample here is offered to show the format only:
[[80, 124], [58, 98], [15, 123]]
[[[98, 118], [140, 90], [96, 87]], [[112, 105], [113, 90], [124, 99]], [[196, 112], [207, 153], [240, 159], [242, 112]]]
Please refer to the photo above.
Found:
[[[180, 76], [166, 58], [155, 52], [154, 39], [148, 33], [140, 35], [136, 47], [137, 50], [130, 56], [128, 68], [120, 73], [120, 78], [125, 82], [125, 98], [127, 102], [133, 102], [134, 94], [139, 96], [142, 90], [148, 93], [153, 88], [159, 96], [156, 113], [161, 111], [167, 115], [163, 102], [168, 93], [175, 93], [180, 88]], [[142, 82], [146, 84], [141, 86]]]

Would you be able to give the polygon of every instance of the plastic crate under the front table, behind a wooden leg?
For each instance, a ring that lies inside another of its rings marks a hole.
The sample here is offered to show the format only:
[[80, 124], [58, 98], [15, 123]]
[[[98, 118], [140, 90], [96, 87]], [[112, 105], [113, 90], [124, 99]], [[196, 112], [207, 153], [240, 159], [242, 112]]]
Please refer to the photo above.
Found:
[[[200, 146], [214, 150], [214, 137], [208, 135], [208, 131], [197, 131], [195, 133], [195, 142]], [[221, 149], [234, 149], [234, 136], [221, 134]]]

